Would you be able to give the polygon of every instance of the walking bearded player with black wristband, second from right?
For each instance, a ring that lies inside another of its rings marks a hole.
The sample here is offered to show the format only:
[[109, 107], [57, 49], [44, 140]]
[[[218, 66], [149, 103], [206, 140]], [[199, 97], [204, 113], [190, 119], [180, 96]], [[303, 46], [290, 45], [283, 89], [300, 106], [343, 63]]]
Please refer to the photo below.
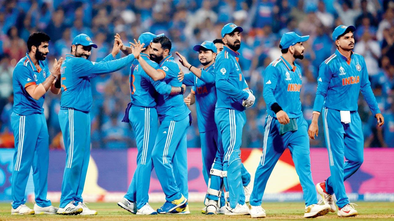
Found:
[[263, 97], [267, 104], [263, 153], [256, 169], [250, 199], [251, 217], [266, 217], [261, 207], [269, 176], [283, 151], [290, 149], [305, 200], [304, 217], [329, 213], [329, 205], [319, 205], [310, 170], [308, 123], [301, 112], [302, 70], [295, 63], [304, 58], [303, 42], [307, 36], [294, 32], [282, 35], [282, 56], [271, 62], [264, 72]]

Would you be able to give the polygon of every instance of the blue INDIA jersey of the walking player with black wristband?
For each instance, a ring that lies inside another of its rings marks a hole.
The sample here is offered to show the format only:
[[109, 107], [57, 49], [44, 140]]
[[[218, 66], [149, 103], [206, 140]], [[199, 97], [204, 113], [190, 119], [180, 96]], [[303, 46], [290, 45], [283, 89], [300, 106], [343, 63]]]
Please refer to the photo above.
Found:
[[273, 103], [278, 103], [289, 118], [302, 116], [301, 100], [302, 87], [301, 67], [294, 63], [292, 66], [281, 56], [271, 62], [264, 71], [263, 97], [267, 104], [267, 113], [276, 118], [271, 110]]

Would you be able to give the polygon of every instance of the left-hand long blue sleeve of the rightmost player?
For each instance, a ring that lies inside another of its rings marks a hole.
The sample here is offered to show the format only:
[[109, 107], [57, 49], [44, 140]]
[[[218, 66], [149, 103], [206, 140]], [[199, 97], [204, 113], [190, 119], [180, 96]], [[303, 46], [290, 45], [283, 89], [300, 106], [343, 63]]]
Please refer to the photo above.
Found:
[[316, 98], [313, 105], [313, 110], [322, 112], [325, 97], [327, 96], [328, 87], [333, 75], [330, 68], [324, 62], [319, 67], [318, 88], [316, 90]]

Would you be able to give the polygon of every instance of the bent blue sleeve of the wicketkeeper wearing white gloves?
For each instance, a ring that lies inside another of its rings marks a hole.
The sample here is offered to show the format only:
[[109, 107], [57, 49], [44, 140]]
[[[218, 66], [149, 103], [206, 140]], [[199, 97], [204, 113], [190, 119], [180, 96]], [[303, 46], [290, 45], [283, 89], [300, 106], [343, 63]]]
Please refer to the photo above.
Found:
[[249, 97], [248, 92], [238, 89], [228, 82], [231, 68], [230, 59], [218, 59], [215, 64], [216, 89], [234, 99], [247, 99]]

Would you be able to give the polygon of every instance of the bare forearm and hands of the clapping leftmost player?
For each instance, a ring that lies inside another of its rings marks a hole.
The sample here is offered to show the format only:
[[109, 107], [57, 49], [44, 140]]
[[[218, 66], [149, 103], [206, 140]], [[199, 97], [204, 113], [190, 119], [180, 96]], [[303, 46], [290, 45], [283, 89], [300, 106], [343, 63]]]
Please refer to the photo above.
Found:
[[[40, 99], [50, 87], [54, 85], [55, 79], [60, 75], [60, 67], [63, 63], [63, 57], [58, 60], [55, 59], [55, 63], [53, 65], [52, 72], [50, 76], [48, 76], [45, 81], [39, 85], [30, 85], [26, 87], [26, 92], [35, 100]], [[52, 89], [51, 89], [52, 90]]]

